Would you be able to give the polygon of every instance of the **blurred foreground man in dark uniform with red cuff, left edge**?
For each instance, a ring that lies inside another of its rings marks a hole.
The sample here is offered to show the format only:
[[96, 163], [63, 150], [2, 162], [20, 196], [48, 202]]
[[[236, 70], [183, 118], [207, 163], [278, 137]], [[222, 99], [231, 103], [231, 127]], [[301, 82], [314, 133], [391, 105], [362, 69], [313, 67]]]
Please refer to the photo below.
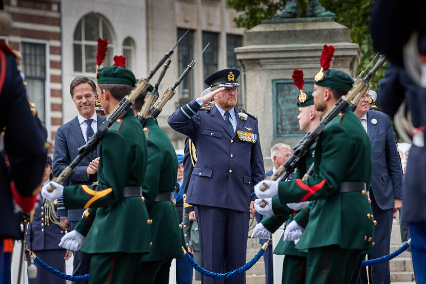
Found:
[[[3, 3], [2, 3], [3, 6]], [[3, 8], [3, 7], [2, 7]], [[4, 30], [4, 23], [0, 26]], [[22, 237], [21, 214], [30, 212], [36, 201], [46, 163], [46, 136], [33, 117], [13, 52], [0, 41], [0, 264], [3, 240]], [[0, 265], [1, 266], [1, 265]]]

